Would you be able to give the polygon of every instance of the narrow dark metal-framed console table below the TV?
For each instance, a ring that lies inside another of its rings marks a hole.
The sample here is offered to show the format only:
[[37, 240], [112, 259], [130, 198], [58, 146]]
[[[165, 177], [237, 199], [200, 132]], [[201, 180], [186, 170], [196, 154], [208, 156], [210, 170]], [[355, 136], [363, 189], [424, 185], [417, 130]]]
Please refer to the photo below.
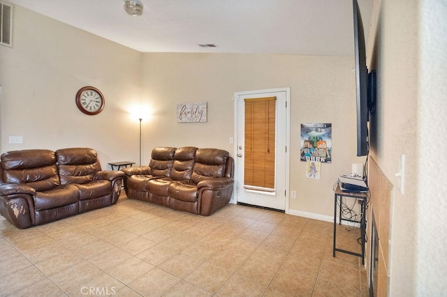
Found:
[[[361, 204], [361, 216], [360, 222], [356, 220], [350, 220], [346, 218], [342, 218], [342, 199], [343, 197], [349, 197], [354, 199], [360, 199], [359, 203]], [[342, 224], [342, 220], [348, 222], [357, 222], [360, 223], [360, 236], [361, 236], [361, 245], [362, 245], [362, 253], [351, 252], [349, 250], [342, 250], [336, 247], [337, 243], [337, 201], [340, 201], [339, 204], [339, 224]], [[346, 254], [353, 254], [354, 256], [362, 258], [362, 265], [365, 264], [365, 234], [366, 234], [366, 207], [367, 207], [367, 194], [363, 192], [346, 192], [340, 189], [340, 186], [337, 184], [337, 188], [335, 189], [334, 194], [334, 247], [333, 247], [333, 257], [335, 257], [335, 252], [344, 252]]]

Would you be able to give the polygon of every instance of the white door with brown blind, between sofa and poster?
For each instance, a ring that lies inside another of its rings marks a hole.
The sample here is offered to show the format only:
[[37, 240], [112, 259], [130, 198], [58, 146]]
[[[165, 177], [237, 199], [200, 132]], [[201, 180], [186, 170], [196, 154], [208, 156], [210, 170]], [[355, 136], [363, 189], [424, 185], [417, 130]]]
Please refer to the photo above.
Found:
[[285, 211], [290, 89], [235, 93], [235, 198]]

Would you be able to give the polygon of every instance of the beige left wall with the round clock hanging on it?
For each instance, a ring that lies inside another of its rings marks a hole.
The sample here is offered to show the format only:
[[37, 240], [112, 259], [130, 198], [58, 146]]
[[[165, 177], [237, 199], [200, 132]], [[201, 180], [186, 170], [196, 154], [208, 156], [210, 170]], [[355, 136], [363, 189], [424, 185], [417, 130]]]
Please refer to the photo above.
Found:
[[[1, 151], [89, 146], [107, 163], [138, 158], [142, 54], [15, 6], [14, 47], [0, 47]], [[101, 114], [75, 105], [82, 86], [105, 96]], [[8, 144], [10, 135], [23, 144]]]

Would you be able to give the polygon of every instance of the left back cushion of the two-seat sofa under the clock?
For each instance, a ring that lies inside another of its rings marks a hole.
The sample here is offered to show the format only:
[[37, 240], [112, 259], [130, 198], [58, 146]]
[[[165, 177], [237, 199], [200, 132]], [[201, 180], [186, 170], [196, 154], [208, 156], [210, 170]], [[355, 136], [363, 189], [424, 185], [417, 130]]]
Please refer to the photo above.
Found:
[[31, 149], [1, 155], [3, 182], [27, 184], [36, 191], [50, 190], [60, 184], [53, 151]]

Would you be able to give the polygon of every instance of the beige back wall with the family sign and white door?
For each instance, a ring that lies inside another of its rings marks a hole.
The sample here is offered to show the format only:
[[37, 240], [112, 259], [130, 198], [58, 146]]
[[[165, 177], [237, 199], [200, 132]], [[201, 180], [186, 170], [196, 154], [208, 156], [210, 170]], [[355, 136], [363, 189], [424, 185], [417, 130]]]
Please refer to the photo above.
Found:
[[[143, 100], [154, 114], [145, 125], [145, 150], [154, 146], [214, 146], [234, 155], [235, 92], [291, 88], [291, 213], [332, 220], [332, 185], [356, 157], [353, 57], [274, 54], [144, 54]], [[177, 123], [177, 103], [208, 102], [207, 123]], [[332, 164], [321, 179], [305, 177], [299, 161], [300, 123], [332, 123]], [[149, 125], [149, 126], [148, 126]], [[148, 162], [149, 160], [145, 160]]]

